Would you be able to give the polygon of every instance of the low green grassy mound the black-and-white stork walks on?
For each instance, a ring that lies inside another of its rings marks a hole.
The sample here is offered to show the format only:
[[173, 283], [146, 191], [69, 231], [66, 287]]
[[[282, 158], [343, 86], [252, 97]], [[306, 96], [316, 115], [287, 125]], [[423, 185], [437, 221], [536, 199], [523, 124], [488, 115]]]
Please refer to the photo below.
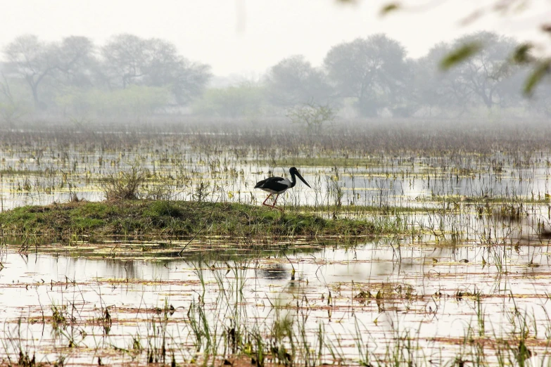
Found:
[[94, 236], [365, 236], [374, 225], [315, 214], [281, 213], [265, 207], [194, 201], [122, 200], [18, 207], [0, 213], [4, 233], [63, 238]]

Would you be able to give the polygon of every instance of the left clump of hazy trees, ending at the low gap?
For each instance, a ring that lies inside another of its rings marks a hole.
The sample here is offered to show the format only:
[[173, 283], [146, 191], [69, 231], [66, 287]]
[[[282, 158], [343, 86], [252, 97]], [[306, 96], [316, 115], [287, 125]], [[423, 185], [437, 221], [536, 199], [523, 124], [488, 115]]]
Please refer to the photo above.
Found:
[[32, 34], [4, 47], [0, 112], [148, 114], [203, 93], [209, 65], [193, 63], [163, 39], [119, 34], [103, 46], [88, 37], [59, 42]]

